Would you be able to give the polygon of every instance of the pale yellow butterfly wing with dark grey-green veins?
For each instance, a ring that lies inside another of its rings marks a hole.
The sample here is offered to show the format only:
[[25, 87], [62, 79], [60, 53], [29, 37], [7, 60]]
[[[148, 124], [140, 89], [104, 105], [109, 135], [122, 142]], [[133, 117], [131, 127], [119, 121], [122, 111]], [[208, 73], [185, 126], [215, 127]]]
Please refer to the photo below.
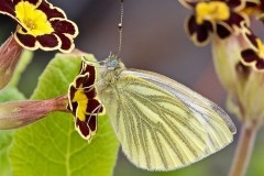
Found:
[[235, 133], [220, 107], [158, 74], [124, 70], [101, 98], [124, 154], [141, 168], [184, 167], [224, 147]]

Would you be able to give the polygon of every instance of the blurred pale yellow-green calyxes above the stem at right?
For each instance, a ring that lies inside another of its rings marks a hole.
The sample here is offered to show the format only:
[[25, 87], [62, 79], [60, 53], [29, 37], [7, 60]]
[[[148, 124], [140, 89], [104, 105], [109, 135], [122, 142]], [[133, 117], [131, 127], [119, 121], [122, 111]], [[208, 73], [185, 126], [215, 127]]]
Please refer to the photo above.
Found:
[[264, 73], [241, 62], [249, 47], [242, 34], [227, 40], [213, 38], [212, 53], [220, 81], [228, 91], [228, 108], [241, 121], [260, 125], [264, 120]]

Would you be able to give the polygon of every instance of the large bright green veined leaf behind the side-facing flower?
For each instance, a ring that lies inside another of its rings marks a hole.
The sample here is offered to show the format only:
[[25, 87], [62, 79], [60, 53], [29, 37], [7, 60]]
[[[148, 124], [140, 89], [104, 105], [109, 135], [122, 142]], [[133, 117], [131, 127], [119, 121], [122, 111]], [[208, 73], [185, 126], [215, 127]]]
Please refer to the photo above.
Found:
[[[94, 59], [91, 55], [87, 57]], [[79, 67], [79, 56], [56, 55], [40, 77], [32, 99], [67, 94]], [[75, 131], [69, 113], [51, 113], [42, 121], [18, 130], [10, 150], [13, 175], [111, 175], [119, 144], [106, 116], [99, 117], [98, 125], [90, 144]]]

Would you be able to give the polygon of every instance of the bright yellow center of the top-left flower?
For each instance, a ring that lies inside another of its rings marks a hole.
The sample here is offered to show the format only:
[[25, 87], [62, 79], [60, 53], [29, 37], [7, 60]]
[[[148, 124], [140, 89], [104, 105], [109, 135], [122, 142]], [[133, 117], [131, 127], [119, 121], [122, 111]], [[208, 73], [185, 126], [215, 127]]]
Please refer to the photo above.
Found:
[[33, 36], [51, 34], [54, 32], [52, 24], [48, 22], [46, 14], [36, 8], [28, 1], [21, 1], [14, 8], [15, 15], [28, 34]]

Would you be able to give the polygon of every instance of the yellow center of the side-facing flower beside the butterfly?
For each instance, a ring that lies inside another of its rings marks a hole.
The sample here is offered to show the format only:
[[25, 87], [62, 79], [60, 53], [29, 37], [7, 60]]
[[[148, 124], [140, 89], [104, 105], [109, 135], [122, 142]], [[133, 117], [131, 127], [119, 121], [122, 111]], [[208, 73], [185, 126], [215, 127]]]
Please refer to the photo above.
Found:
[[85, 117], [85, 114], [86, 114], [86, 107], [87, 107], [87, 103], [88, 103], [88, 99], [87, 99], [87, 97], [86, 97], [86, 95], [85, 95], [82, 89], [78, 89], [75, 92], [73, 101], [74, 102], [78, 102], [77, 117], [79, 118], [80, 121], [85, 121], [85, 119], [86, 119], [86, 117]]

